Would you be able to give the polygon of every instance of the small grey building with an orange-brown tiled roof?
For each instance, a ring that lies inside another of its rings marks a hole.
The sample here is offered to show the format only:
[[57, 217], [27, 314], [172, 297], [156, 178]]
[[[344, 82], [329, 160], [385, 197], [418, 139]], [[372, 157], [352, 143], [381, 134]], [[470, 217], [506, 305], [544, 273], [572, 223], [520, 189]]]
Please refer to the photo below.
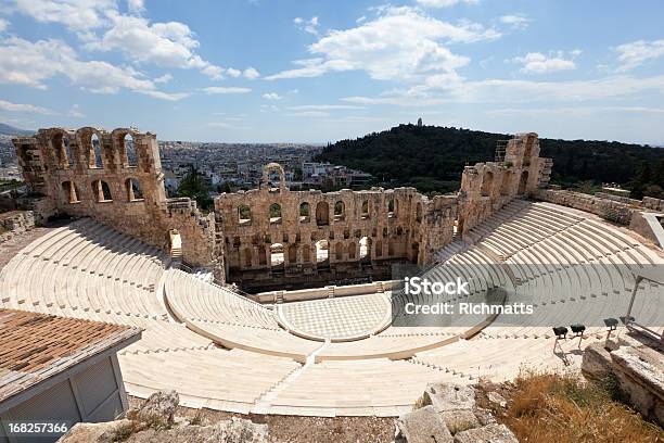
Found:
[[52, 442], [128, 408], [117, 352], [141, 329], [0, 309], [0, 443]]

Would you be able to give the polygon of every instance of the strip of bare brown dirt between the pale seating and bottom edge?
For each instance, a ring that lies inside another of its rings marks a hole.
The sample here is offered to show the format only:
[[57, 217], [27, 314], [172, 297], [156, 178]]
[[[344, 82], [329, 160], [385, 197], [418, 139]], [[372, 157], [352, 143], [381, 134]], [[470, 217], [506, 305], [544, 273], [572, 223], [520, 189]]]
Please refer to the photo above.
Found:
[[[129, 397], [131, 407], [143, 400]], [[301, 417], [278, 415], [243, 415], [219, 410], [178, 407], [176, 416], [195, 417], [215, 422], [230, 417], [250, 419], [268, 426], [272, 443], [388, 443], [394, 441], [394, 417]]]

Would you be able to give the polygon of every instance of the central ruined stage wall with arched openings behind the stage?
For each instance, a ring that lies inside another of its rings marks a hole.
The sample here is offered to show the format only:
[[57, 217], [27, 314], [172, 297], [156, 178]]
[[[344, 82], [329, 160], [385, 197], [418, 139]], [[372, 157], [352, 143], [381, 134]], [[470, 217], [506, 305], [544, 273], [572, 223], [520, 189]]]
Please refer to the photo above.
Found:
[[[281, 177], [277, 187], [268, 179], [273, 169]], [[425, 264], [451, 241], [456, 201], [429, 200], [414, 188], [290, 191], [281, 167], [271, 164], [261, 189], [221, 194], [215, 212], [229, 280], [265, 289], [277, 281], [314, 284], [368, 274], [385, 279], [396, 261]], [[328, 254], [317, 263], [320, 242], [327, 242]], [[271, 251], [281, 250], [283, 264], [272, 264]]]

